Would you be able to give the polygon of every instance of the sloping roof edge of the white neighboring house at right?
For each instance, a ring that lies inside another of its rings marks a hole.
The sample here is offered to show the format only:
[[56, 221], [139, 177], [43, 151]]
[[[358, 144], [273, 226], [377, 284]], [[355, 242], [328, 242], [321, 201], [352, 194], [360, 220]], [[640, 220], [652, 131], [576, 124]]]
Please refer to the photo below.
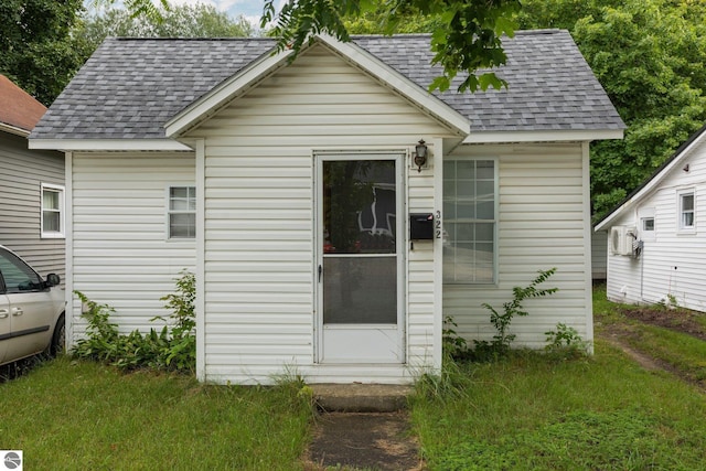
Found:
[[674, 170], [681, 167], [681, 163], [692, 156], [692, 151], [706, 139], [706, 125], [698, 131], [694, 132], [689, 138], [678, 147], [660, 168], [657, 168], [652, 176], [645, 180], [640, 186], [634, 189], [628, 196], [606, 216], [595, 224], [595, 231], [603, 231], [610, 227], [610, 224], [618, 218], [623, 212], [633, 207], [652, 190], [657, 188], [660, 183]]

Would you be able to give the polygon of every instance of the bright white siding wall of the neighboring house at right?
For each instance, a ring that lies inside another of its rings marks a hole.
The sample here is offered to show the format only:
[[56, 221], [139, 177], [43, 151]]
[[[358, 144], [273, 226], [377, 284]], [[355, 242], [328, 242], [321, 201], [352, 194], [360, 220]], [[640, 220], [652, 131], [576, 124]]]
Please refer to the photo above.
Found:
[[[668, 302], [706, 311], [704, 260], [706, 256], [706, 146], [686, 160], [688, 172], [677, 165], [659, 188], [625, 211], [612, 226], [635, 227], [643, 243], [638, 258], [608, 256], [608, 298], [631, 303]], [[685, 162], [685, 163], [686, 163]], [[695, 229], [680, 228], [680, 193], [694, 193]], [[642, 218], [654, 217], [654, 232], [645, 232]]]

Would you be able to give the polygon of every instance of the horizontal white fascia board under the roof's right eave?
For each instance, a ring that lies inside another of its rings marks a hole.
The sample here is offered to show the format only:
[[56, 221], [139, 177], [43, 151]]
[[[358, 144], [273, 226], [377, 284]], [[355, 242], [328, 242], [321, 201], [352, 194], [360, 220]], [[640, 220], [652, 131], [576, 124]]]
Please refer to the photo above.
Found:
[[579, 142], [603, 139], [622, 139], [622, 129], [566, 130], [566, 131], [492, 131], [471, 132], [463, 143], [501, 142]]

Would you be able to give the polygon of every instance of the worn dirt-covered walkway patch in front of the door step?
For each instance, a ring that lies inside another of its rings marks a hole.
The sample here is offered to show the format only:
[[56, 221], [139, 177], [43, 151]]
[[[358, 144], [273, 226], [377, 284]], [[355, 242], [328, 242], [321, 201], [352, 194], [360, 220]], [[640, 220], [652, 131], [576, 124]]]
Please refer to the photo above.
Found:
[[304, 461], [309, 471], [424, 469], [404, 411], [322, 414]]

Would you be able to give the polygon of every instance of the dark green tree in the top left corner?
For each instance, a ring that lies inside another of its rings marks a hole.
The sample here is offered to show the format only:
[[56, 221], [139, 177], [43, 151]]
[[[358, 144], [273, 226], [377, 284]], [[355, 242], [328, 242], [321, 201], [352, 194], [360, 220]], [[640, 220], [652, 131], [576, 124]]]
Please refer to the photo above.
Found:
[[82, 12], [82, 0], [2, 0], [0, 73], [49, 106], [88, 54], [72, 32]]

